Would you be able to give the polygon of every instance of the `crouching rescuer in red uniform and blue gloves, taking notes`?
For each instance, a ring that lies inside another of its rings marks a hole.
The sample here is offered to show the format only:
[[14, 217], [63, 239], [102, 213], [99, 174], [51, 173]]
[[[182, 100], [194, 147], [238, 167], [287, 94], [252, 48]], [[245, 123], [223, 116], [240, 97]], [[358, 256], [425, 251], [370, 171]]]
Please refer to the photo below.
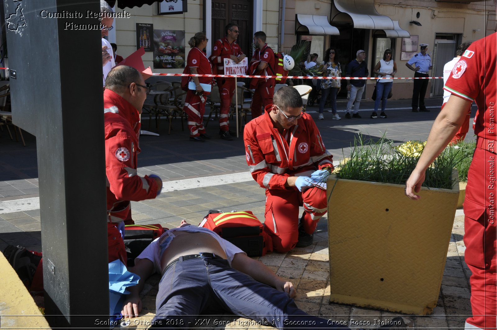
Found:
[[244, 141], [250, 173], [266, 188], [264, 230], [274, 250], [311, 245], [327, 211], [320, 182], [333, 170], [333, 161], [314, 120], [302, 111], [299, 92], [289, 86], [275, 92], [273, 104], [245, 126]]

